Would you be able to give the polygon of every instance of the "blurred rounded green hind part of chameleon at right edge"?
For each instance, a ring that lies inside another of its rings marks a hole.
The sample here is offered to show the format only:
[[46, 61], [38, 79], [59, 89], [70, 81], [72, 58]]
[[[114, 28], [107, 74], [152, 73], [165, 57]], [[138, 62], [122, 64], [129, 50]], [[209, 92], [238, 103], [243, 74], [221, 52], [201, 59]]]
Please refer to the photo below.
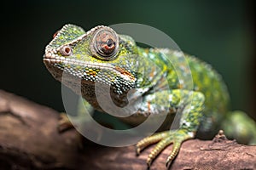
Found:
[[230, 139], [240, 144], [256, 144], [256, 122], [242, 111], [231, 111], [222, 122], [222, 129]]

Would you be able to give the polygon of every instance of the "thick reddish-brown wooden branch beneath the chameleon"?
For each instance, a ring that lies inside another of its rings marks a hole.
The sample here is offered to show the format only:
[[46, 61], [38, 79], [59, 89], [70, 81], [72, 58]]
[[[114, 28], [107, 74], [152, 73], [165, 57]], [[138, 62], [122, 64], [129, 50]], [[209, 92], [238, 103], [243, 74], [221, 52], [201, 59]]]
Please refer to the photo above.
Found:
[[[58, 133], [58, 112], [0, 90], [0, 169], [147, 169], [152, 146], [111, 148], [87, 142], [79, 150], [75, 130]], [[151, 169], [166, 169], [172, 145]], [[183, 143], [172, 169], [256, 169], [256, 146], [230, 140]]]

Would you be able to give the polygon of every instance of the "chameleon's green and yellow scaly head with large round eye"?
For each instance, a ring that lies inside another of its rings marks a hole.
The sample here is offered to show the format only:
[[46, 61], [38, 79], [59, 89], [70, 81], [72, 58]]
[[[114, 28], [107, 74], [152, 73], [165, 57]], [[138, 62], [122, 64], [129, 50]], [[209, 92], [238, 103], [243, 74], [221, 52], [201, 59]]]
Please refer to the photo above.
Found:
[[133, 88], [137, 77], [137, 46], [131, 37], [118, 35], [108, 26], [85, 32], [66, 25], [45, 48], [44, 64], [59, 81], [63, 71], [79, 77], [84, 85], [101, 82], [122, 94]]

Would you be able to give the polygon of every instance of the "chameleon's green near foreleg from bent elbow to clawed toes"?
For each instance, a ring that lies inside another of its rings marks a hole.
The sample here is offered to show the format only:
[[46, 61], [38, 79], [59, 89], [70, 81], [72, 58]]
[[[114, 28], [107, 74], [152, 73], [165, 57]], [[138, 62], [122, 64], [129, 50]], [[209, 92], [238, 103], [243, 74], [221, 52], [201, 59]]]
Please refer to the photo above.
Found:
[[[165, 93], [165, 92], [160, 92]], [[149, 97], [152, 98], [152, 97]], [[182, 117], [180, 126], [177, 130], [164, 131], [155, 133], [137, 143], [137, 154], [150, 144], [157, 143], [150, 152], [147, 159], [148, 167], [150, 167], [154, 158], [160, 154], [162, 150], [169, 144], [172, 144], [172, 151], [166, 159], [166, 167], [170, 165], [172, 160], [177, 156], [183, 141], [193, 139], [197, 128], [200, 125], [202, 111], [204, 108], [205, 97], [200, 92], [189, 92], [186, 90], [172, 90], [169, 94], [170, 105], [174, 108], [182, 107]]]

